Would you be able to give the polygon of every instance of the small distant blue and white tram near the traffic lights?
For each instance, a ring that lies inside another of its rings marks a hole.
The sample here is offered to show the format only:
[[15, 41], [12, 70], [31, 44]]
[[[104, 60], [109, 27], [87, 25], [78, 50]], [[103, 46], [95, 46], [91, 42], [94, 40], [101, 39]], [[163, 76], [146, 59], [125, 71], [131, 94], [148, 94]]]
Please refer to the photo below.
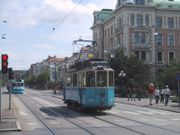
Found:
[[24, 93], [24, 80], [12, 80], [11, 93], [23, 94]]

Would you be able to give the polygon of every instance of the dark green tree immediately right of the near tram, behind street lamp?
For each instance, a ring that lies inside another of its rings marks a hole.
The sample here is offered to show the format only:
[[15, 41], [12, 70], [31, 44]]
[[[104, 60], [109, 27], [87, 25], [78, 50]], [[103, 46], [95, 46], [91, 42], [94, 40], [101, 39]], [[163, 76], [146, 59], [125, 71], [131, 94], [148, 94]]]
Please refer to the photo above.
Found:
[[152, 81], [150, 67], [138, 60], [135, 56], [125, 56], [122, 49], [117, 49], [115, 57], [110, 61], [115, 70], [115, 85], [118, 86], [118, 74], [123, 70], [126, 73], [126, 86], [145, 87]]

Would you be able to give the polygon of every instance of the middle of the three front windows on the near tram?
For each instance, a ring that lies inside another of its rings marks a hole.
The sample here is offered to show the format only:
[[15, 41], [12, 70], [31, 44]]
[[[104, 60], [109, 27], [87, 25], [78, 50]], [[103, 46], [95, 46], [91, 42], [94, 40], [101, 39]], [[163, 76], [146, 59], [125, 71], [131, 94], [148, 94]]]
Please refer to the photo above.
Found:
[[105, 87], [105, 86], [107, 86], [107, 72], [98, 71], [97, 72], [97, 87]]

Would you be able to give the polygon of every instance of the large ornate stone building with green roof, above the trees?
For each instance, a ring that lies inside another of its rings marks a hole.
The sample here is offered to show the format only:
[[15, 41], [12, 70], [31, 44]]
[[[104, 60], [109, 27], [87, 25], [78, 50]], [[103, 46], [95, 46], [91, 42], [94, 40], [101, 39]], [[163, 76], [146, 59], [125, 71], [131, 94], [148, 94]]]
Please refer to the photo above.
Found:
[[180, 2], [118, 0], [114, 10], [94, 12], [91, 29], [100, 58], [122, 48], [153, 71], [180, 60]]

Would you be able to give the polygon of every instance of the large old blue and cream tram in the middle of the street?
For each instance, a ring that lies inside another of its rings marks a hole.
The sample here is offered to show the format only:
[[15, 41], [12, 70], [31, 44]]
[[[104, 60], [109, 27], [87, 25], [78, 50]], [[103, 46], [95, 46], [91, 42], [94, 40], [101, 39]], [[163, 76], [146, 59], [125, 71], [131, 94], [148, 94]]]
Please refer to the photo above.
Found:
[[64, 101], [68, 106], [95, 111], [114, 106], [114, 70], [107, 61], [78, 62], [64, 77]]

